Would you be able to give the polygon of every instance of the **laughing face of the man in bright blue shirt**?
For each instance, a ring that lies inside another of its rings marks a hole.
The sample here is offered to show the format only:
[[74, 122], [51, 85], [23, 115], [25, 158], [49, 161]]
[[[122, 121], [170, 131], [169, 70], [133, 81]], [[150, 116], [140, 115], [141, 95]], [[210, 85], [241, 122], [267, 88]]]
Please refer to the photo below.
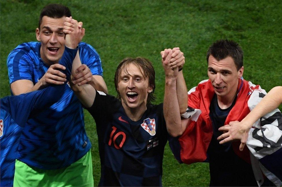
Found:
[[63, 56], [65, 49], [64, 20], [65, 17], [43, 16], [40, 30], [36, 29], [36, 39], [41, 41], [40, 56], [48, 65], [58, 63]]

